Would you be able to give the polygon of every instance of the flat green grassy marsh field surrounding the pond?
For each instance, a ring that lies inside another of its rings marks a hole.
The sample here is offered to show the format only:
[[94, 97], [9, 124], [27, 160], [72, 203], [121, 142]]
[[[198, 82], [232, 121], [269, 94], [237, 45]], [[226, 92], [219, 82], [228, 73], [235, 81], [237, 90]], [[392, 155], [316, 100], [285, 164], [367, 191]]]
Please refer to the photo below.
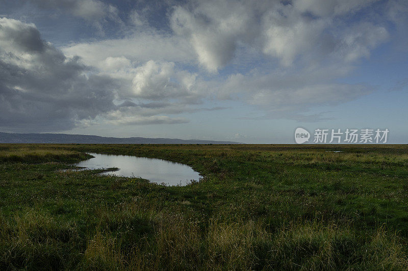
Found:
[[[204, 177], [63, 171], [85, 152]], [[406, 270], [407, 166], [404, 145], [0, 144], [0, 269]]]

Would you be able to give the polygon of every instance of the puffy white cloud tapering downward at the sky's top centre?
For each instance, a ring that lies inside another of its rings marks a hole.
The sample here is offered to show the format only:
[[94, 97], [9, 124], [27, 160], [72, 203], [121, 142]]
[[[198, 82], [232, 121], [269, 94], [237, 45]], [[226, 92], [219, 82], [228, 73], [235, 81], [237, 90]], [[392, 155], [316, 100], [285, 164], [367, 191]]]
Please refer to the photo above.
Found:
[[199, 63], [216, 72], [233, 59], [239, 41], [254, 37], [252, 11], [237, 1], [206, 1], [193, 11], [176, 7], [170, 24], [190, 41]]

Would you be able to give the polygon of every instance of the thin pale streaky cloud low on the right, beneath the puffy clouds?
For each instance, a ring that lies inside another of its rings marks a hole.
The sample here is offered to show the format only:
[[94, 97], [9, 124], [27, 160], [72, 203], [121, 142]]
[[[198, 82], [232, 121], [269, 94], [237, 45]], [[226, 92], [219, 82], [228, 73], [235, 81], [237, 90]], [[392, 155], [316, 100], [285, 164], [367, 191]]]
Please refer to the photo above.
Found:
[[339, 74], [331, 69], [336, 67], [238, 73], [228, 77], [218, 93], [227, 97], [240, 96], [254, 108], [262, 109], [268, 118], [273, 116], [306, 121], [324, 119], [318, 115], [305, 118], [304, 113], [314, 107], [337, 105], [374, 91], [374, 88], [363, 84], [333, 83], [333, 78]]

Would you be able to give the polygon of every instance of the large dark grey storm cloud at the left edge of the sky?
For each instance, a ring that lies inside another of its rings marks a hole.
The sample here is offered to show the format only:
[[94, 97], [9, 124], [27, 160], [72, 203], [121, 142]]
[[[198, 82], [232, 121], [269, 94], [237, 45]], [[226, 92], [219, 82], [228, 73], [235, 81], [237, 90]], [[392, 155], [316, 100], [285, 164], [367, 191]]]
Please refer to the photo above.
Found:
[[0, 18], [0, 37], [1, 127], [70, 129], [115, 109], [117, 82], [85, 75], [87, 66], [42, 41], [34, 25]]

